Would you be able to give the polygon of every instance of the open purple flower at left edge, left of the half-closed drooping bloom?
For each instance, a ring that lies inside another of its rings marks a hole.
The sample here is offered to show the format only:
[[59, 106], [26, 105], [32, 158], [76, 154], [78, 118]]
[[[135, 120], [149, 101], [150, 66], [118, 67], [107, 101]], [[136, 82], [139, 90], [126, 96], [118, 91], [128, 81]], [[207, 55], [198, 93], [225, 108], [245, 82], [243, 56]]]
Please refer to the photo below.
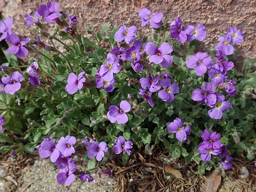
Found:
[[20, 90], [21, 81], [23, 81], [23, 76], [17, 71], [12, 73], [12, 76], [2, 77], [2, 82], [6, 84], [4, 91], [10, 95], [13, 95], [15, 92]]

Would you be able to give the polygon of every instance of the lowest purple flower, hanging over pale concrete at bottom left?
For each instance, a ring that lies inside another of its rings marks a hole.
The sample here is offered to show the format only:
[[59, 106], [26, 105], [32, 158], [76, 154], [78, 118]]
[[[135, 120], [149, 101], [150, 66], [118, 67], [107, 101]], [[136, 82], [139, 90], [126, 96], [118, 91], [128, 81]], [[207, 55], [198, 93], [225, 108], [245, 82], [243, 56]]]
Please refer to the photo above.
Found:
[[68, 167], [65, 169], [60, 169], [59, 174], [56, 179], [58, 184], [63, 185], [66, 183], [66, 186], [70, 186], [71, 183], [75, 180], [75, 175], [73, 174], [76, 171], [76, 164], [73, 159], [68, 161]]

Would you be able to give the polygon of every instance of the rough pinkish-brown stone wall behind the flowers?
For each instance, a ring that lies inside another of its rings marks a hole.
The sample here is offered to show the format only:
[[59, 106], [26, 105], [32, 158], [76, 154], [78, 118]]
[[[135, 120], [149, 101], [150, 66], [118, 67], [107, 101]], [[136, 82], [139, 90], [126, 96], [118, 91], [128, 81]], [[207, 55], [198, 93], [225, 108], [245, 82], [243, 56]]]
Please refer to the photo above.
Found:
[[[244, 41], [236, 46], [241, 58], [256, 55], [256, 0], [56, 0], [60, 11], [67, 15], [77, 15], [78, 30], [86, 34], [87, 27], [100, 31], [104, 23], [116, 25], [135, 25], [142, 33], [150, 33], [151, 28], [140, 26], [137, 16], [140, 8], [147, 7], [153, 12], [163, 12], [164, 20], [171, 23], [177, 16], [183, 23], [202, 23], [207, 28], [207, 39], [202, 43], [211, 47], [217, 43], [218, 35], [225, 33], [229, 26], [244, 31]], [[3, 17], [14, 19], [13, 32], [21, 36], [29, 34], [29, 27], [23, 23], [24, 15], [34, 13], [38, 6], [47, 0], [0, 0]], [[42, 21], [44, 22], [44, 21]], [[51, 26], [52, 24], [48, 24]], [[241, 48], [240, 48], [241, 47]]]

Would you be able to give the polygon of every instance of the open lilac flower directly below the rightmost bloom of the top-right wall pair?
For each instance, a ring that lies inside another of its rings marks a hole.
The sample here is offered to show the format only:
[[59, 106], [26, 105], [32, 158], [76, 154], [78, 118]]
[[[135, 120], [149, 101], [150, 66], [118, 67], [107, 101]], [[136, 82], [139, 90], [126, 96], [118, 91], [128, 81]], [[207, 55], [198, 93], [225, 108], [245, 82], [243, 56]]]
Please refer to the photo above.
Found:
[[212, 67], [212, 58], [207, 56], [206, 52], [198, 52], [195, 56], [189, 57], [186, 66], [189, 69], [195, 69], [197, 76], [202, 76]]

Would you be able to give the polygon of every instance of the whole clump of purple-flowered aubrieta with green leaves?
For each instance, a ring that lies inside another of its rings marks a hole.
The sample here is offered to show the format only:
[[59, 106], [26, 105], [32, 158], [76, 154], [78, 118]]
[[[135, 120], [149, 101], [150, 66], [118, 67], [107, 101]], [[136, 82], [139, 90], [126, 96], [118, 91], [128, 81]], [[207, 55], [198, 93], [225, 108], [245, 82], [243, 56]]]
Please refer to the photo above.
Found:
[[[7, 53], [18, 58], [29, 52], [41, 55], [41, 60], [30, 59], [26, 66], [6, 53], [0, 93], [9, 111], [3, 112], [6, 120], [0, 117], [0, 131], [7, 124], [10, 131], [22, 135], [27, 125], [23, 135], [27, 144], [16, 144], [4, 135], [2, 140], [12, 146], [2, 151], [31, 152], [36, 147], [41, 158], [49, 157], [59, 169], [58, 183], [67, 186], [76, 175], [91, 182], [90, 171], [104, 165], [113, 153], [125, 164], [134, 147], [145, 145], [150, 154], [148, 149], [160, 142], [172, 158], [185, 157], [186, 164], [201, 159], [200, 174], [213, 166], [230, 169], [233, 158], [227, 155], [241, 149], [253, 160], [255, 144], [245, 145], [240, 138], [248, 137], [241, 135], [245, 132], [255, 135], [255, 103], [241, 104], [244, 95], [254, 95], [235, 76], [230, 61], [233, 46], [243, 40], [241, 29], [230, 27], [218, 38], [215, 50], [195, 52], [199, 41], [207, 38], [207, 30], [200, 23], [184, 26], [181, 17], [168, 26], [163, 13], [143, 8], [138, 13], [141, 26], [150, 25], [153, 38], [137, 32], [136, 26], [109, 32], [104, 25], [96, 34], [87, 29], [93, 37], [89, 39], [77, 31], [76, 16], [64, 18], [58, 9], [57, 2], [48, 2], [34, 15], [25, 15], [25, 24], [36, 34], [34, 42], [12, 33], [11, 18], [0, 22], [0, 40], [10, 44]], [[58, 26], [47, 32], [41, 17]], [[238, 81], [239, 89], [246, 89], [239, 95]], [[89, 160], [87, 170], [77, 170], [79, 155]]]

